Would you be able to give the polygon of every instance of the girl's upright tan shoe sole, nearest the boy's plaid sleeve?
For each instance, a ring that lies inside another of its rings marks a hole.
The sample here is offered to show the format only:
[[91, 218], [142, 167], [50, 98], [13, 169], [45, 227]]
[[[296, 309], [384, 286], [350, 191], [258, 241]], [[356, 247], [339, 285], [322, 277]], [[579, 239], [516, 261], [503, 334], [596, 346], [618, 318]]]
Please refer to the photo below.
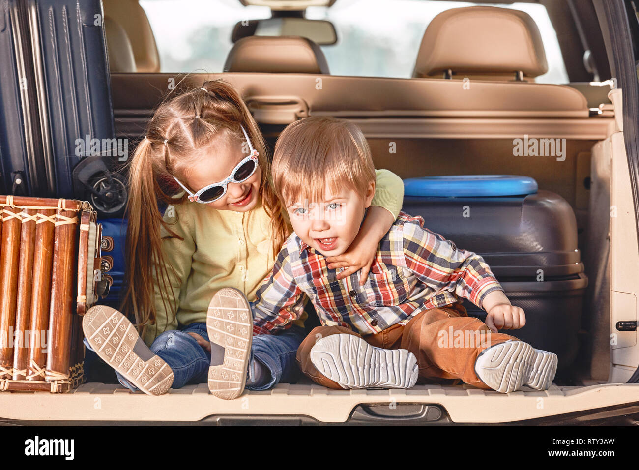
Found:
[[208, 306], [206, 331], [212, 350], [213, 345], [224, 348], [224, 363], [212, 363], [208, 370], [208, 389], [224, 400], [238, 398], [246, 384], [253, 338], [253, 315], [242, 292], [225, 287], [215, 294]]

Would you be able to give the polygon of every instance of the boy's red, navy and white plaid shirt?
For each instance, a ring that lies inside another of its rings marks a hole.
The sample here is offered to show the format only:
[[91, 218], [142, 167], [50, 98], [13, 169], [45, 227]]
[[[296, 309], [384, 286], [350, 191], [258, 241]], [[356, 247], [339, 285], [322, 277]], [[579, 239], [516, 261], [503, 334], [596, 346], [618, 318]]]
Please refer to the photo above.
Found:
[[254, 334], [274, 333], [302, 315], [306, 296], [322, 325], [341, 325], [359, 334], [406, 324], [422, 310], [459, 302], [480, 306], [503, 290], [481, 256], [457, 249], [424, 228], [422, 217], [399, 213], [381, 239], [366, 283], [360, 272], [337, 280], [324, 255], [293, 233], [277, 256], [272, 276], [256, 292]]

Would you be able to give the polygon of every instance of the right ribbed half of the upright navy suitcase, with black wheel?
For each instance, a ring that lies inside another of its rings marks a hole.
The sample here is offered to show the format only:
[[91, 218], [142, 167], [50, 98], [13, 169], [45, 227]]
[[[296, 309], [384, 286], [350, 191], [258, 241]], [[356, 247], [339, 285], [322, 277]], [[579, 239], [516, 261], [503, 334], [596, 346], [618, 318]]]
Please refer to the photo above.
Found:
[[121, 214], [125, 181], [112, 176], [130, 149], [115, 138], [102, 2], [38, 0], [36, 8], [56, 196]]

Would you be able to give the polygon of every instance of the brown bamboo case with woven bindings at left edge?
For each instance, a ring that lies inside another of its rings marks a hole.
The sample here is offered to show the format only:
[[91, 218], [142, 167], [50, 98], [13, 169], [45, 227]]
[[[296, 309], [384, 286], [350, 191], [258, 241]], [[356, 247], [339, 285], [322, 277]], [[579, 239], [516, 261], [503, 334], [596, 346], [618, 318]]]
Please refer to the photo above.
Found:
[[0, 196], [0, 210], [0, 391], [69, 391], [84, 381], [81, 315], [108, 288], [109, 243], [87, 201]]

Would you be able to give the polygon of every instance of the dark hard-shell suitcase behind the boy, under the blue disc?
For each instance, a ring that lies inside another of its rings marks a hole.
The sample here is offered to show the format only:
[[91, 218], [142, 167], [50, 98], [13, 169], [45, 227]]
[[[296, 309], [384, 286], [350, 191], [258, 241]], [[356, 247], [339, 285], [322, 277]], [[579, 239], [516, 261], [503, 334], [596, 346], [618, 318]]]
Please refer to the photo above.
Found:
[[[481, 255], [512, 304], [524, 309], [526, 325], [504, 330], [537, 349], [555, 352], [558, 375], [578, 354], [587, 277], [577, 248], [570, 205], [558, 194], [438, 198], [405, 196], [403, 211], [457, 247]], [[465, 301], [468, 314], [486, 312]]]

